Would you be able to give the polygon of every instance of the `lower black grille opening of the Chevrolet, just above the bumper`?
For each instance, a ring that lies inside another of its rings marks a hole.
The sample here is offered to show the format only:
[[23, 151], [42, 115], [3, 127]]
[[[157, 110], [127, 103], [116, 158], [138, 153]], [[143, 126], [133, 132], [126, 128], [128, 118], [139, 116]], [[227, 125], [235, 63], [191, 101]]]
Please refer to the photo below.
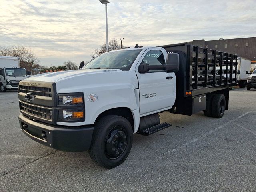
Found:
[[52, 108], [49, 108], [48, 106], [28, 104], [20, 101], [20, 110], [40, 118], [52, 120]]

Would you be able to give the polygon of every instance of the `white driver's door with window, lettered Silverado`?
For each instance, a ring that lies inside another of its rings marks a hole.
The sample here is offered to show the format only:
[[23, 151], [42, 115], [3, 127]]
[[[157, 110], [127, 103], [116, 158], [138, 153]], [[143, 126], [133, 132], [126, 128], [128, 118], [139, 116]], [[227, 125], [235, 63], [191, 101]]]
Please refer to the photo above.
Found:
[[150, 70], [139, 73], [138, 66], [165, 65], [166, 57], [161, 49], [150, 48], [144, 52], [136, 67], [140, 90], [140, 115], [171, 108], [175, 102], [176, 78], [174, 73], [166, 70]]

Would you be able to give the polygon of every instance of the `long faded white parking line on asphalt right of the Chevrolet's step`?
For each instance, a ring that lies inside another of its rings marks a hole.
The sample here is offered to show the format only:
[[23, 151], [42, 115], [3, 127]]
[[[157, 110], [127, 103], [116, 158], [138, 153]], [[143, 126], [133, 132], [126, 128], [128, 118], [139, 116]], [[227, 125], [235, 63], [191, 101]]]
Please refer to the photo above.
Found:
[[249, 114], [249, 113], [250, 113], [250, 112], [246, 112], [245, 114], [242, 114], [242, 115], [238, 116], [237, 118], [234, 118], [234, 119], [230, 120], [229, 122], [226, 122], [226, 123], [224, 123], [223, 125], [221, 125], [221, 126], [215, 128], [215, 129], [213, 129], [213, 130], [210, 130], [209, 132], [206, 132], [205, 134], [202, 134], [202, 136], [200, 136], [200, 137], [198, 137], [198, 138], [194, 138], [193, 140], [191, 140], [191, 141], [189, 141], [189, 142], [186, 142], [186, 143], [184, 143], [184, 144], [178, 146], [177, 148], [174, 148], [174, 149], [172, 149], [172, 150], [170, 150], [170, 151], [168, 151], [168, 152], [165, 152], [164, 154], [159, 155], [159, 156], [157, 156], [157, 157], [160, 158], [160, 159], [163, 159], [165, 156], [167, 156], [167, 155], [169, 155], [169, 154], [172, 154], [172, 153], [174, 153], [174, 152], [177, 152], [177, 151], [179, 151], [179, 150], [181, 150], [181, 149], [183, 149], [183, 148], [186, 148], [186, 147], [189, 146], [191, 143], [197, 142], [199, 139], [202, 139], [202, 138], [208, 136], [209, 134], [211, 134], [211, 133], [213, 133], [213, 132], [216, 132], [216, 131], [220, 130], [221, 128], [224, 128], [226, 125], [228, 125], [228, 124], [230, 124], [230, 123], [236, 121], [236, 120], [239, 119], [239, 118], [242, 118], [243, 116], [245, 116], [245, 115], [247, 115], [247, 114]]

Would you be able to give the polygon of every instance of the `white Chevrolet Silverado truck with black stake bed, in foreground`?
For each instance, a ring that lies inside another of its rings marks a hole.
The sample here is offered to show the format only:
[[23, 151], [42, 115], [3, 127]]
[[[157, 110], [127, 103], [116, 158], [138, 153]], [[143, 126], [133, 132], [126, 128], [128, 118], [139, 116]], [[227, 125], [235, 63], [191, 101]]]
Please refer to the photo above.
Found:
[[200, 111], [221, 118], [237, 85], [236, 66], [236, 55], [187, 43], [110, 51], [80, 70], [22, 80], [20, 127], [36, 142], [89, 150], [94, 162], [114, 168], [127, 158], [133, 134], [171, 126], [160, 123], [160, 112], [170, 112], [170, 120]]

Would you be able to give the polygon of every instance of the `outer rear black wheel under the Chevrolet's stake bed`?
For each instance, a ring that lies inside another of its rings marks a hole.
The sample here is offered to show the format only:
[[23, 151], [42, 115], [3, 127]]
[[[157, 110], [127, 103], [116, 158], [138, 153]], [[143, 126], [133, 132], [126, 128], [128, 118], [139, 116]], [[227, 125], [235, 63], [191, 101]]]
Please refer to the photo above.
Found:
[[216, 94], [212, 99], [212, 117], [222, 118], [226, 108], [226, 99], [223, 94]]

